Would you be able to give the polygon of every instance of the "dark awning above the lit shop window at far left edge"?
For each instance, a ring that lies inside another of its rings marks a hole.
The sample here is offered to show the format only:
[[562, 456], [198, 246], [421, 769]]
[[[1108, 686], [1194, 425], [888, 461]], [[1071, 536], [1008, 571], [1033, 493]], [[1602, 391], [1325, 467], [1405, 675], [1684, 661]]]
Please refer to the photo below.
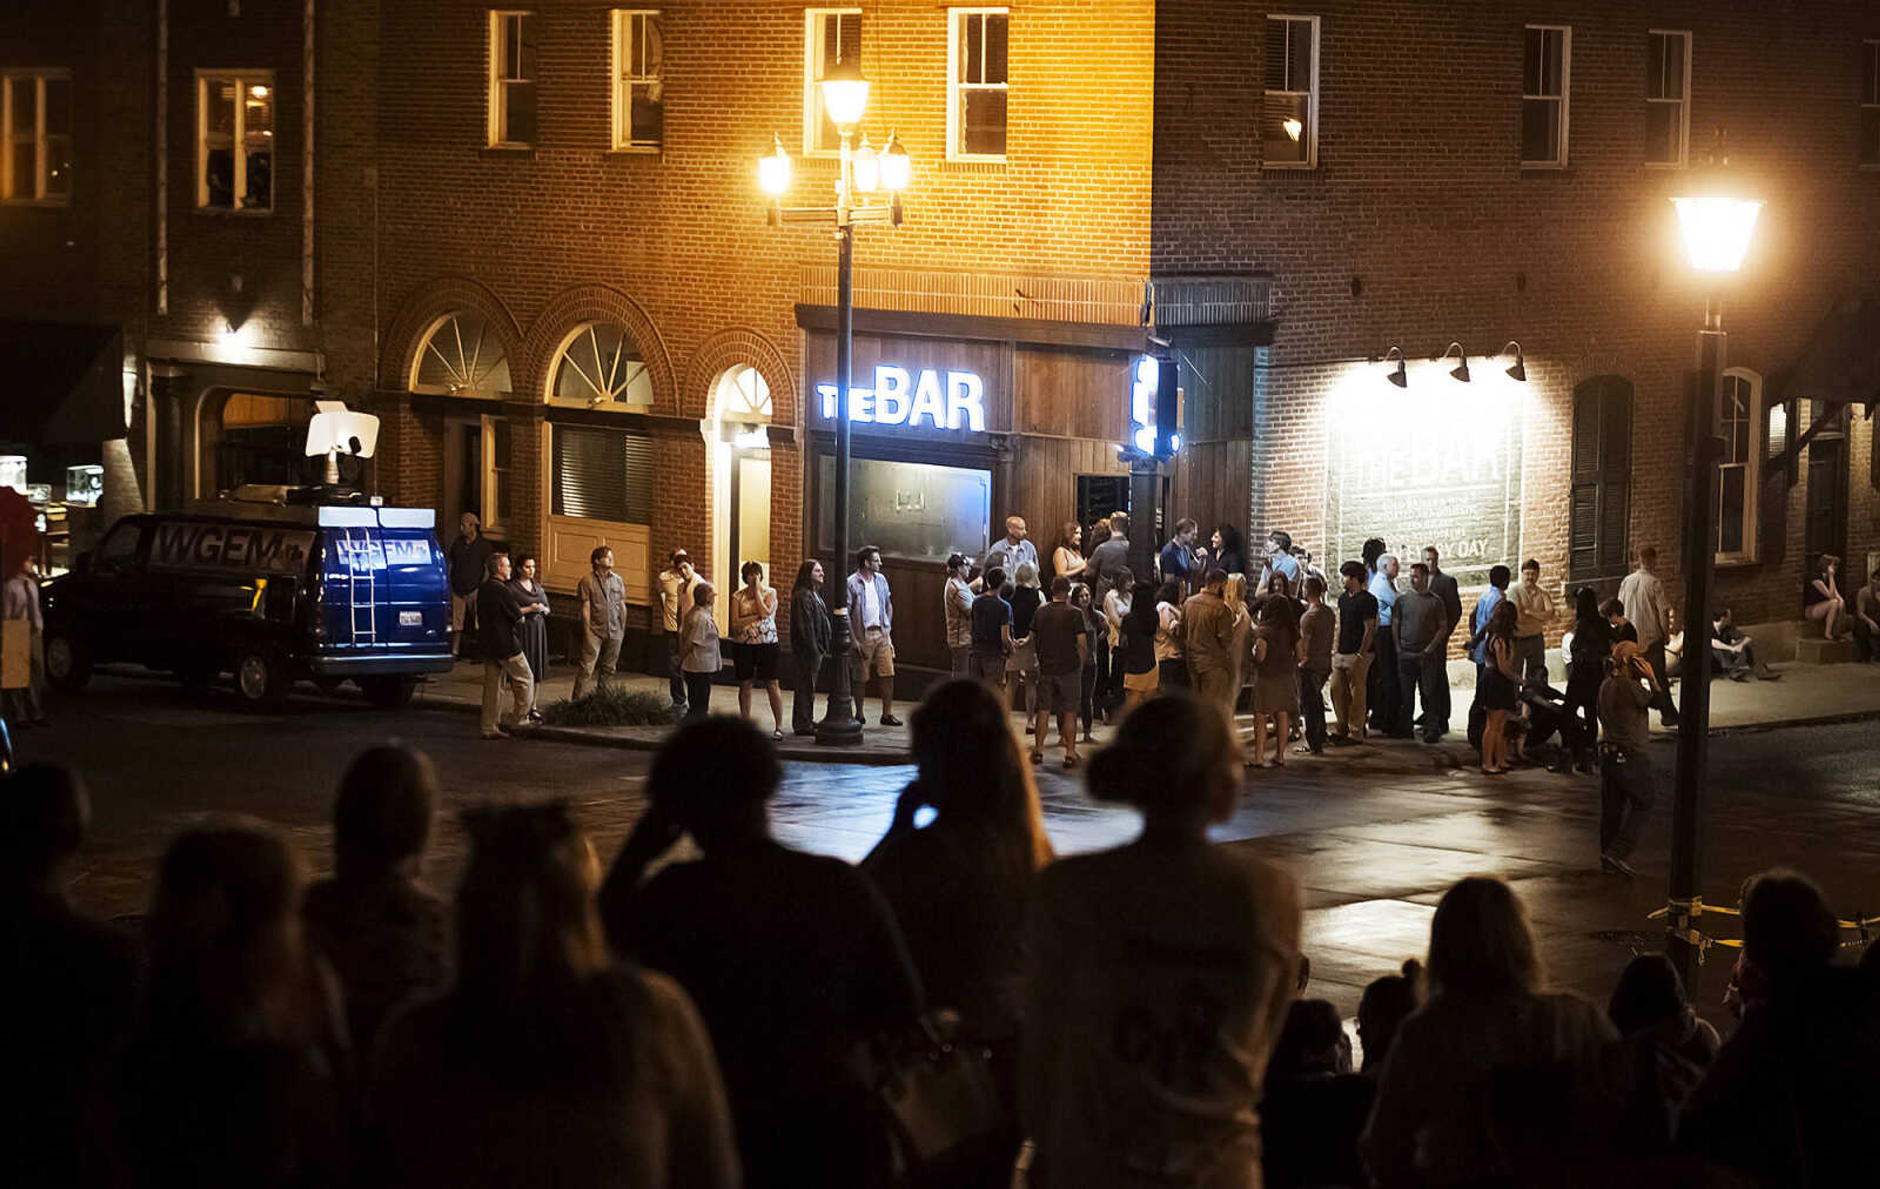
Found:
[[0, 440], [96, 445], [122, 438], [124, 332], [0, 319]]

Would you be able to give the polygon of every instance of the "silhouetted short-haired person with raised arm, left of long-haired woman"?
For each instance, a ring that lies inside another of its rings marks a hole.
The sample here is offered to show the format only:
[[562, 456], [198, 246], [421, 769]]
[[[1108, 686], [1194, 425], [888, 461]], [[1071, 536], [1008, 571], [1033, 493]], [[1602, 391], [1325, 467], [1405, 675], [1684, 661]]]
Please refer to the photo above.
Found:
[[[901, 930], [837, 858], [771, 838], [782, 766], [748, 723], [686, 723], [652, 761], [652, 802], [602, 887], [615, 950], [692, 996], [724, 1069], [748, 1185], [874, 1185], [885, 1133], [857, 1044], [921, 1009]], [[647, 868], [692, 834], [697, 862]]]

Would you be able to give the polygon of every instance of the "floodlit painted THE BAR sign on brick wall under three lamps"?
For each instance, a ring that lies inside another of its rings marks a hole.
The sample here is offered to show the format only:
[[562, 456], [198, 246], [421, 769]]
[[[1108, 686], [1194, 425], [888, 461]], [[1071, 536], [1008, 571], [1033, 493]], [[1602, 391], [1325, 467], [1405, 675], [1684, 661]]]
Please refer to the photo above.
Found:
[[[1410, 562], [1425, 545], [1463, 586], [1521, 564], [1523, 396], [1504, 385], [1442, 383], [1344, 393], [1327, 415], [1327, 573], [1384, 537]], [[1421, 389], [1421, 391], [1419, 391]]]

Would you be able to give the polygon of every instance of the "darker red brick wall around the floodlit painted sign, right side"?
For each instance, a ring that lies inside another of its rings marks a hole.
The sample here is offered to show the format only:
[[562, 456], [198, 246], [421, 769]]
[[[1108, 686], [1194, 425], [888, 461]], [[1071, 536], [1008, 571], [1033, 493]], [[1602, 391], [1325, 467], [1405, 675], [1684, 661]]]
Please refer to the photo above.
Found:
[[[1795, 361], [1839, 295], [1869, 291], [1880, 263], [1871, 231], [1880, 175], [1856, 167], [1854, 139], [1857, 49], [1880, 36], [1880, 9], [1857, 0], [1277, 8], [1322, 17], [1314, 171], [1261, 169], [1265, 11], [1160, 6], [1152, 267], [1273, 276], [1269, 359], [1288, 370], [1269, 374], [1256, 426], [1267, 524], [1314, 548], [1322, 532], [1325, 394], [1344, 366], [1303, 364], [1391, 344], [1416, 361], [1451, 340], [1480, 357], [1517, 338], [1528, 364], [1523, 556], [1564, 573], [1572, 389], [1613, 372], [1637, 396], [1630, 541], [1656, 543], [1660, 569], [1675, 571], [1679, 406], [1703, 289], [1664, 201], [1686, 175], [1641, 163], [1647, 30], [1692, 30], [1692, 150], [1728, 126], [1733, 162], [1769, 199], [1726, 301], [1731, 363], [1769, 376]], [[1562, 171], [1519, 167], [1528, 19], [1574, 26]], [[1448, 379], [1433, 372], [1421, 383]], [[1848, 535], [1859, 554], [1874, 520], [1867, 456], [1852, 445]], [[1745, 622], [1799, 609], [1801, 500], [1797, 486], [1786, 560], [1718, 577], [1718, 599]]]

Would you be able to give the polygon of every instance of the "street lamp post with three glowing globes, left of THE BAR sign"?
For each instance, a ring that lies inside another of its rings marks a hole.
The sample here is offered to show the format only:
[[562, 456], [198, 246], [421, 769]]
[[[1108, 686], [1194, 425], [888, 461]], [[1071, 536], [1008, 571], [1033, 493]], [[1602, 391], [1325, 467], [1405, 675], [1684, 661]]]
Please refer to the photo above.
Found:
[[[887, 147], [876, 152], [869, 147], [869, 137], [861, 147], [854, 145], [855, 128], [869, 107], [869, 81], [861, 77], [852, 62], [831, 68], [816, 85], [822, 92], [823, 111], [835, 124], [842, 139], [840, 167], [835, 180], [833, 207], [784, 207], [784, 193], [790, 192], [790, 154], [784, 152], [780, 137], [773, 137], [771, 154], [758, 160], [758, 184], [771, 195], [771, 225], [814, 224], [835, 229], [837, 248], [837, 331], [835, 331], [835, 569], [831, 575], [829, 599], [829, 661], [835, 674], [829, 689], [829, 710], [816, 723], [816, 742], [825, 748], [854, 748], [861, 742], [861, 723], [855, 721], [854, 686], [850, 656], [854, 652], [854, 625], [848, 622], [848, 486], [850, 486], [850, 381], [854, 379], [854, 329], [855, 329], [855, 224], [901, 225], [901, 192], [908, 184], [910, 162], [901, 148], [901, 139], [889, 131]], [[876, 192], [885, 190], [887, 199], [876, 201]], [[814, 462], [814, 460], [812, 460]], [[814, 548], [814, 543], [812, 543]], [[835, 595], [835, 584], [842, 584], [842, 595]]]

